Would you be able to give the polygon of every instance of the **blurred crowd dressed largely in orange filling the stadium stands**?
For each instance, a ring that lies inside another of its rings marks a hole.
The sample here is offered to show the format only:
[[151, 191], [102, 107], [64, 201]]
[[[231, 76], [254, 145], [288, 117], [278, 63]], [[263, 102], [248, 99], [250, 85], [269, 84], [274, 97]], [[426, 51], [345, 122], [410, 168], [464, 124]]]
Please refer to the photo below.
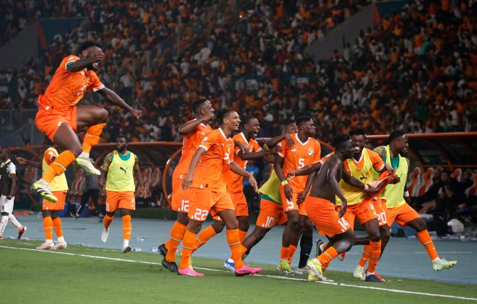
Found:
[[[23, 71], [2, 72], [0, 81], [7, 79], [9, 85], [0, 106], [35, 108], [61, 59], [81, 41], [94, 39], [106, 54], [100, 78], [145, 113], [136, 122], [104, 104], [112, 112], [105, 141], [118, 132], [135, 141], [179, 140], [176, 126], [191, 117], [189, 104], [198, 96], [208, 96], [216, 108], [257, 116], [260, 136], [277, 134], [280, 122], [298, 114], [319, 121], [317, 137], [326, 142], [357, 124], [373, 134], [477, 129], [473, 1], [410, 1], [375, 29], [363, 29], [356, 41], [343, 42], [342, 54], [316, 64], [304, 55], [304, 47], [366, 0], [257, 0], [239, 16], [233, 4], [208, 6], [212, 2], [217, 1], [110, 0], [91, 2], [82, 12], [75, 5], [61, 12], [57, 8], [54, 15], [89, 16], [86, 33], [74, 30]], [[119, 17], [124, 14], [130, 17]], [[180, 37], [183, 50], [172, 60], [159, 51], [171, 35]], [[284, 80], [303, 74], [312, 80]], [[240, 85], [241, 77], [256, 79], [256, 86]], [[101, 102], [93, 95], [89, 100]]]

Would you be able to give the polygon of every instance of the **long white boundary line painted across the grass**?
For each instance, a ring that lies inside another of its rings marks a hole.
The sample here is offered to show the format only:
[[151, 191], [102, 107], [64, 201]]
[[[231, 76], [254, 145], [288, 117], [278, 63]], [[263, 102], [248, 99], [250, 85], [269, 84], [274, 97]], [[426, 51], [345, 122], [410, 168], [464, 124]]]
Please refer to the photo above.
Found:
[[[155, 262], [138, 261], [138, 260], [126, 260], [126, 259], [120, 259], [120, 258], [112, 258], [112, 257], [96, 256], [96, 255], [88, 255], [88, 254], [79, 254], [79, 253], [71, 253], [71, 252], [59, 252], [59, 251], [39, 250], [39, 249], [33, 249], [33, 248], [20, 248], [20, 247], [11, 247], [11, 246], [0, 246], [0, 248], [29, 250], [29, 251], [66, 254], [66, 255], [75, 255], [75, 256], [89, 257], [89, 258], [95, 258], [95, 259], [120, 261], [120, 262], [142, 263], [142, 264], [149, 264], [149, 265], [161, 265], [161, 263], [155, 263]], [[202, 267], [194, 267], [194, 268], [200, 269], [200, 270], [214, 271], [214, 272], [229, 272], [230, 273], [230, 271], [219, 270], [219, 269], [202, 268]], [[281, 279], [281, 280], [308, 282], [308, 280], [306, 280], [306, 279], [299, 279], [299, 278], [290, 278], [290, 277], [281, 277], [281, 276], [272, 276], [272, 275], [261, 275], [261, 274], [255, 274], [254, 276], [256, 276], [256, 277], [267, 277], [267, 278], [273, 278], [273, 279]], [[438, 298], [450, 298], [450, 299], [477, 301], [477, 298], [467, 298], [467, 297], [458, 297], [458, 296], [450, 296], [450, 295], [420, 293], [420, 292], [413, 292], [413, 291], [406, 291], [406, 290], [399, 290], [399, 289], [388, 289], [388, 288], [373, 287], [373, 286], [360, 286], [360, 285], [352, 285], [352, 284], [344, 284], [344, 283], [336, 283], [336, 282], [317, 282], [317, 281], [315, 281], [315, 282], [316, 283], [321, 283], [321, 284], [327, 284], [327, 285], [354, 287], [354, 288], [361, 288], [361, 289], [372, 289], [372, 290], [387, 291], [387, 292], [399, 293], [399, 294], [410, 294], [410, 295], [418, 295], [418, 296], [429, 296], [429, 297], [438, 297]]]

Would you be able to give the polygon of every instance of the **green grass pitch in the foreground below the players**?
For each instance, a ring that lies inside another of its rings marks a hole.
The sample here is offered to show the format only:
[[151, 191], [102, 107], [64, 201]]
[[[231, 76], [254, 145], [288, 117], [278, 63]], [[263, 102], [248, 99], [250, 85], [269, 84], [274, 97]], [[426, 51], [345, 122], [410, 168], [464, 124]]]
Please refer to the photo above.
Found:
[[164, 269], [159, 254], [124, 254], [119, 250], [75, 245], [59, 253], [31, 250], [39, 244], [39, 241], [0, 240], [2, 303], [477, 301], [476, 285], [395, 277], [386, 278], [385, 284], [367, 283], [350, 273], [335, 271], [327, 271], [326, 276], [336, 284], [323, 284], [307, 282], [305, 275], [278, 275], [273, 265], [260, 265], [263, 267], [260, 276], [235, 277], [223, 271], [222, 260], [203, 258], [194, 258], [193, 262], [205, 277], [182, 277]]

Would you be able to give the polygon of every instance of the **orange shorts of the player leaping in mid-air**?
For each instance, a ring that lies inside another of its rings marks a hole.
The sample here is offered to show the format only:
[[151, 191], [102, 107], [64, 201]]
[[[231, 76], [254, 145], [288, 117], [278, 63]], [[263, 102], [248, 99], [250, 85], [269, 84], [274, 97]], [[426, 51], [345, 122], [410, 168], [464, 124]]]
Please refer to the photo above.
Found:
[[48, 136], [53, 142], [56, 130], [62, 123], [70, 125], [73, 131], [77, 131], [77, 107], [72, 107], [70, 112], [55, 111], [53, 108], [45, 110], [44, 107], [38, 109], [35, 124], [38, 130]]

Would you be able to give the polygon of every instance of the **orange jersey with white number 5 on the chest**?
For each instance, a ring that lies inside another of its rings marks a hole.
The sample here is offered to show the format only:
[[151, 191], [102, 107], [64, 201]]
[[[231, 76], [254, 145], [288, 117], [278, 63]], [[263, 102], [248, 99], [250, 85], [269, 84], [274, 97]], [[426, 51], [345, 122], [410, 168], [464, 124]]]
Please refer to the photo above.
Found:
[[[293, 135], [292, 135], [293, 137]], [[309, 164], [319, 161], [321, 147], [316, 139], [311, 137], [305, 143], [298, 139], [298, 134], [295, 133], [293, 137], [295, 146], [288, 147], [287, 141], [280, 142], [281, 151], [278, 155], [284, 158], [283, 160], [283, 174], [287, 176], [291, 170], [297, 170]], [[290, 186], [298, 191], [305, 189], [308, 176], [296, 176], [290, 180]]]

